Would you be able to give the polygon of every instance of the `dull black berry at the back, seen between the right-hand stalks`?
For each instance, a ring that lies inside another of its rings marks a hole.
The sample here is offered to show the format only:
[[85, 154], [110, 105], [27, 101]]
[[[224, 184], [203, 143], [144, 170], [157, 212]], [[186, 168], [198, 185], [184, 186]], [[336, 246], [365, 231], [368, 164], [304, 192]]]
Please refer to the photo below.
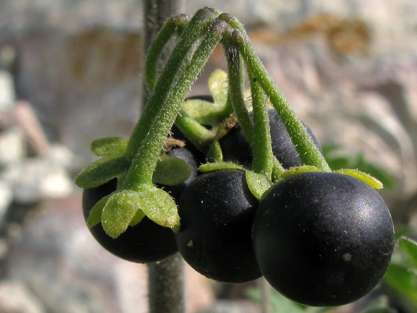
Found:
[[[253, 112], [250, 112], [249, 115], [252, 119]], [[291, 141], [291, 137], [286, 131], [285, 125], [281, 121], [279, 115], [276, 114], [274, 109], [269, 109], [268, 116], [269, 127], [271, 129], [272, 152], [274, 156], [276, 156], [284, 169], [302, 165], [298, 152], [296, 151], [294, 144]], [[313, 139], [314, 144], [316, 144], [321, 151], [321, 147], [316, 136], [314, 136], [313, 132], [306, 124], [304, 124], [304, 126], [309, 132], [311, 139]], [[248, 141], [246, 141], [246, 137], [239, 124], [223, 136], [219, 140], [219, 143], [223, 151], [224, 161], [237, 161], [242, 165], [251, 164], [252, 150]]]

